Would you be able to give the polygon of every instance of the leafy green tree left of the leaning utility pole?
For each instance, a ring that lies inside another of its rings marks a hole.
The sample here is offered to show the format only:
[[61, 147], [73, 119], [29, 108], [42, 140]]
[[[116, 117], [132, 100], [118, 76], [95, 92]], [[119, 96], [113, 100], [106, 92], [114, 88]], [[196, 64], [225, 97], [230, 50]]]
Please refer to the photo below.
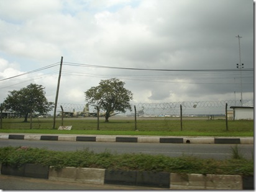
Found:
[[[47, 113], [52, 110], [53, 102], [48, 102], [42, 85], [30, 84], [20, 90], [9, 91], [4, 100], [4, 108], [24, 115], [24, 122], [27, 122], [29, 113], [30, 118], [34, 112]], [[32, 128], [31, 120], [30, 128]]]

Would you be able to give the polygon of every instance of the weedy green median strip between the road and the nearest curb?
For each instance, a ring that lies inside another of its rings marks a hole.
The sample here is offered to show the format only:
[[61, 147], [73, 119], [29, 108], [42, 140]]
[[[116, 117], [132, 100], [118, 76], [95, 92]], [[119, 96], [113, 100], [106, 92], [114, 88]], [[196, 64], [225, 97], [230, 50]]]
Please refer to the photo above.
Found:
[[[22, 148], [22, 149], [21, 149]], [[149, 172], [198, 173], [220, 175], [254, 175], [254, 160], [235, 155], [235, 159], [199, 159], [193, 156], [167, 157], [147, 154], [96, 154], [85, 149], [75, 152], [56, 152], [25, 147], [0, 148], [0, 162], [12, 167], [23, 164], [63, 167], [106, 168], [109, 170], [137, 170]]]

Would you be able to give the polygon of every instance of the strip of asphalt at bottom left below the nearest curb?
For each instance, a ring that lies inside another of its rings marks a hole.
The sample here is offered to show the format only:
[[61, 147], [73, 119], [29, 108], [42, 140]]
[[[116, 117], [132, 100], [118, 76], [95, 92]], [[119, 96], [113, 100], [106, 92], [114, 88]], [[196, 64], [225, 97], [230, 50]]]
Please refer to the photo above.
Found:
[[0, 190], [167, 190], [147, 186], [94, 185], [0, 175]]

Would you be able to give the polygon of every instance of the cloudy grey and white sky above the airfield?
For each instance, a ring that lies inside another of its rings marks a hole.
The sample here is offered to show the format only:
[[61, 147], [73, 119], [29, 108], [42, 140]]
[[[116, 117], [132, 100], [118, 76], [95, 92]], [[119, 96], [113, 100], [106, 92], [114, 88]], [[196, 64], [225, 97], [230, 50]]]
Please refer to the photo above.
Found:
[[[0, 101], [35, 83], [54, 102], [62, 56], [58, 103], [85, 103], [86, 90], [112, 77], [132, 102], [239, 100], [239, 69], [135, 70], [236, 69], [237, 35], [241, 63], [254, 69], [251, 0], [0, 0], [0, 80], [53, 66], [0, 81]], [[254, 99], [254, 71], [242, 72], [242, 89]]]

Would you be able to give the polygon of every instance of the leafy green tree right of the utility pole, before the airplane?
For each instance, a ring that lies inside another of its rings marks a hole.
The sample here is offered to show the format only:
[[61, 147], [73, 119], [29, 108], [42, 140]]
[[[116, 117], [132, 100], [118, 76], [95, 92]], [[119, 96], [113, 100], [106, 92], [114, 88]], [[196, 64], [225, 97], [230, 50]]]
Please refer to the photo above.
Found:
[[91, 87], [85, 92], [85, 100], [89, 105], [106, 111], [105, 122], [108, 122], [114, 111], [125, 113], [126, 109], [131, 110], [129, 102], [132, 100], [132, 92], [125, 89], [124, 85], [124, 82], [116, 78], [101, 80], [97, 87]]

